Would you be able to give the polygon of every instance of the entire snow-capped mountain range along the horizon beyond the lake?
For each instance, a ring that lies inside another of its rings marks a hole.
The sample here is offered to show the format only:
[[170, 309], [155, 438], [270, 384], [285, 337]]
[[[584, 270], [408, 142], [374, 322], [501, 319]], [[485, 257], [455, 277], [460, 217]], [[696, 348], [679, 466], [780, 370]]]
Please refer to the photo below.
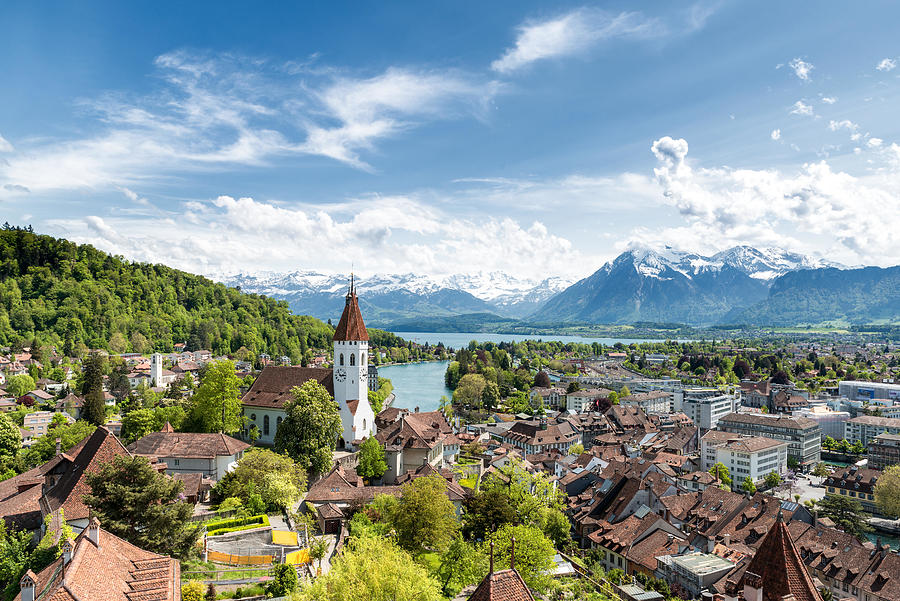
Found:
[[[230, 286], [285, 299], [295, 313], [340, 314], [346, 276], [312, 271], [238, 274]], [[394, 329], [471, 329], [479, 322], [635, 322], [798, 325], [900, 321], [900, 267], [847, 268], [777, 248], [736, 246], [704, 256], [634, 248], [577, 282], [502, 272], [357, 280], [367, 321]], [[448, 330], [449, 331], [449, 330]]]

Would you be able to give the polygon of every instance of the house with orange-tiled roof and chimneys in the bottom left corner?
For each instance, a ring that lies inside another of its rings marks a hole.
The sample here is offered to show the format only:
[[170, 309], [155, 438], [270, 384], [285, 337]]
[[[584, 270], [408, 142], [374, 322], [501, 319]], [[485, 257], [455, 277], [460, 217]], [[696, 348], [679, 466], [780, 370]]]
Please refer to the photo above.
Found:
[[25, 572], [15, 601], [179, 601], [178, 560], [145, 551], [100, 527], [92, 518], [62, 555], [35, 574]]

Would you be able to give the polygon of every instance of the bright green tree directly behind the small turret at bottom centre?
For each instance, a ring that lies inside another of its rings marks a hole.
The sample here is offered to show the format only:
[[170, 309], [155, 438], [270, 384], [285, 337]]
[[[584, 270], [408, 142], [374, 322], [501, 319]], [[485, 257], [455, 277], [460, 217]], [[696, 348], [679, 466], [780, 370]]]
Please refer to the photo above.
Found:
[[556, 549], [549, 538], [535, 526], [513, 526], [506, 524], [488, 537], [483, 552], [489, 552], [489, 545], [494, 543], [494, 569], [502, 570], [510, 567], [512, 539], [515, 537], [516, 569], [529, 588], [543, 592], [550, 583], [548, 573], [553, 567], [553, 556]]

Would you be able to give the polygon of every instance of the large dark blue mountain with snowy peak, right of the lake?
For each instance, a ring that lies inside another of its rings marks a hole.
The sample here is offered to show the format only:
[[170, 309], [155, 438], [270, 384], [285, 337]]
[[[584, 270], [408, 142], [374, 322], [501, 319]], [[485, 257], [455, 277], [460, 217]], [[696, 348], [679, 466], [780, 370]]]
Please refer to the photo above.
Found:
[[717, 323], [764, 300], [787, 273], [840, 267], [780, 249], [736, 246], [703, 256], [635, 248], [548, 300], [540, 322]]

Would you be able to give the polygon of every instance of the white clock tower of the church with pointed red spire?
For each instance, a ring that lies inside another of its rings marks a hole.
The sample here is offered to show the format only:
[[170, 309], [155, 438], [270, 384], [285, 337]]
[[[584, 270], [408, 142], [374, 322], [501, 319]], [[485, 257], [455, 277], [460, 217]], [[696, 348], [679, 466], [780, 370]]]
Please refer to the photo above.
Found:
[[375, 414], [369, 405], [369, 333], [363, 323], [350, 276], [344, 313], [334, 331], [334, 400], [341, 411], [345, 447], [375, 434]]

